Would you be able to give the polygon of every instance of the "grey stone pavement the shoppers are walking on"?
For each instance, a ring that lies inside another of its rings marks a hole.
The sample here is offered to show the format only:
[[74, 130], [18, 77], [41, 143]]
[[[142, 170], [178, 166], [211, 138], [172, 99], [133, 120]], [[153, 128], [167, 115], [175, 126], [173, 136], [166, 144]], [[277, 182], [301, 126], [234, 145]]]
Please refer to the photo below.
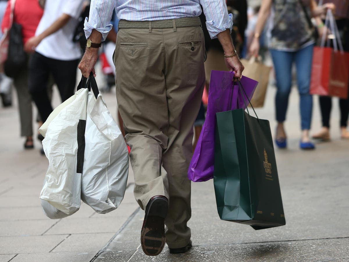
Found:
[[[270, 86], [265, 107], [256, 109], [260, 118], [270, 120], [272, 131], [274, 95]], [[115, 117], [114, 92], [103, 96]], [[54, 97], [57, 106], [56, 91]], [[313, 131], [320, 128], [317, 100]], [[133, 197], [132, 169], [119, 209], [97, 214], [82, 203], [64, 219], [43, 214], [39, 193], [48, 162], [37, 140], [34, 150], [23, 150], [16, 107], [15, 102], [12, 108], [0, 108], [0, 262], [349, 261], [349, 141], [339, 138], [337, 101], [332, 141], [317, 143], [315, 151], [300, 151], [298, 94], [292, 90], [286, 123], [289, 148], [276, 149], [285, 226], [255, 231], [221, 221], [213, 181], [192, 183], [193, 248], [169, 254], [165, 247], [156, 257], [144, 255], [140, 247], [144, 213]]]

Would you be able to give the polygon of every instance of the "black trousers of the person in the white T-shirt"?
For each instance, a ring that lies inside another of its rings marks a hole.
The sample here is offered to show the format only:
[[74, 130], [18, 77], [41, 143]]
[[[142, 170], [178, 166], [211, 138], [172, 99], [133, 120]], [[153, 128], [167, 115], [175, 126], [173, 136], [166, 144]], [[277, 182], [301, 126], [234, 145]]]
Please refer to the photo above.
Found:
[[57, 60], [43, 56], [35, 52], [29, 61], [29, 92], [34, 100], [42, 121], [53, 111], [49, 95], [47, 94], [47, 85], [50, 74], [57, 84], [62, 102], [74, 94], [76, 84], [76, 68], [80, 59], [76, 60]]

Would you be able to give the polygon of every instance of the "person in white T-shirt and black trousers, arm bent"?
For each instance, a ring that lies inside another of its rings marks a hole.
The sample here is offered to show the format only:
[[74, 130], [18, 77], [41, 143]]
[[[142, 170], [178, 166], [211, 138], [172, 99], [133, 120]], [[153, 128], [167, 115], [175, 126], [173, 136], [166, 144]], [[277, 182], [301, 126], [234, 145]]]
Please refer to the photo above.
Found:
[[53, 111], [47, 94], [50, 75], [62, 101], [74, 94], [81, 50], [73, 35], [82, 8], [83, 0], [46, 0], [35, 36], [24, 46], [27, 52], [34, 52], [29, 62], [29, 90], [43, 122]]

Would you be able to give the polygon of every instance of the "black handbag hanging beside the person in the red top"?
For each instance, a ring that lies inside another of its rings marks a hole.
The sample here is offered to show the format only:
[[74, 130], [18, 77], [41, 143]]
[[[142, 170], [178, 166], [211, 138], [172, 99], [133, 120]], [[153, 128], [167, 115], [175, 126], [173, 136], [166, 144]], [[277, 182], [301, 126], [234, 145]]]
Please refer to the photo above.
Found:
[[27, 66], [28, 55], [24, 51], [22, 25], [12, 22], [12, 26], [8, 34], [9, 44], [7, 59], [4, 63], [4, 70], [8, 77], [14, 78], [23, 67]]

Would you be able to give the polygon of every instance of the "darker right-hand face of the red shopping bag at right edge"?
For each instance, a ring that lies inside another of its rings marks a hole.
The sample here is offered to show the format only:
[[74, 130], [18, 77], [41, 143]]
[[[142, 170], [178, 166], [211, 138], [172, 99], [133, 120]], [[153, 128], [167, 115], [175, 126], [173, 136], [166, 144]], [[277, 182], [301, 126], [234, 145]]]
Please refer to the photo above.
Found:
[[329, 74], [329, 95], [348, 98], [349, 53], [333, 51]]

